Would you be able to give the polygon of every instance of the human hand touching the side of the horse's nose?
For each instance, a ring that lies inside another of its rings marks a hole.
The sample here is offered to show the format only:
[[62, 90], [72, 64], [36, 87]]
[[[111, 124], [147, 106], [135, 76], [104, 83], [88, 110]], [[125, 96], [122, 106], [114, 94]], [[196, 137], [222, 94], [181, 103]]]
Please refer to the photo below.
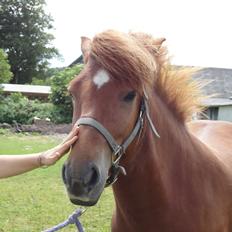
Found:
[[77, 141], [78, 133], [79, 127], [75, 125], [61, 144], [48, 151], [42, 152], [38, 158], [40, 166], [50, 166], [55, 164], [57, 160], [69, 151], [71, 145]]

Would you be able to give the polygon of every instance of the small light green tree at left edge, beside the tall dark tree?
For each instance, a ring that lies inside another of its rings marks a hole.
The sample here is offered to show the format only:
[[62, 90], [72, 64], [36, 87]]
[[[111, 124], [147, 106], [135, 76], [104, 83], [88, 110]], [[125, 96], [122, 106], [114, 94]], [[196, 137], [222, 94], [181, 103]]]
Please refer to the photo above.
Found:
[[12, 77], [7, 55], [0, 49], [0, 84], [8, 83]]

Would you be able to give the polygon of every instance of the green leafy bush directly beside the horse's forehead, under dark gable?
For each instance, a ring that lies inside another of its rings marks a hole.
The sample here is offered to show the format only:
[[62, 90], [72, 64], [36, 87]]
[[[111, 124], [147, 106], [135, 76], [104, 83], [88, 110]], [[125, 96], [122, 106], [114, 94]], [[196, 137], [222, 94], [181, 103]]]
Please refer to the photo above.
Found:
[[70, 123], [72, 119], [72, 99], [67, 91], [69, 82], [83, 69], [82, 64], [66, 68], [51, 78], [52, 94], [56, 123]]

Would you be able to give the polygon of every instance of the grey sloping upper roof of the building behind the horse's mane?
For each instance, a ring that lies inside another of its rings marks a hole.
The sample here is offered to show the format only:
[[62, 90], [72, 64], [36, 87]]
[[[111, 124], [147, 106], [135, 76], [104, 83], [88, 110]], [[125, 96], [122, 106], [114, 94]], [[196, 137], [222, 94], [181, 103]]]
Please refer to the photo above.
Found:
[[194, 78], [210, 82], [203, 88], [205, 95], [226, 99], [232, 97], [232, 69], [203, 68]]

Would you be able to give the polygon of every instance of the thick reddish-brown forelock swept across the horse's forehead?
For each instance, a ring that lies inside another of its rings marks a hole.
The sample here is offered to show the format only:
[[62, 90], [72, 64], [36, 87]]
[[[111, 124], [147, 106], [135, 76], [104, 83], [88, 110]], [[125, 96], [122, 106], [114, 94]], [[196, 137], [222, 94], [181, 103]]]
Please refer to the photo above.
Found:
[[134, 88], [142, 90], [154, 82], [155, 59], [132, 34], [112, 30], [100, 33], [93, 38], [90, 54], [113, 78]]

